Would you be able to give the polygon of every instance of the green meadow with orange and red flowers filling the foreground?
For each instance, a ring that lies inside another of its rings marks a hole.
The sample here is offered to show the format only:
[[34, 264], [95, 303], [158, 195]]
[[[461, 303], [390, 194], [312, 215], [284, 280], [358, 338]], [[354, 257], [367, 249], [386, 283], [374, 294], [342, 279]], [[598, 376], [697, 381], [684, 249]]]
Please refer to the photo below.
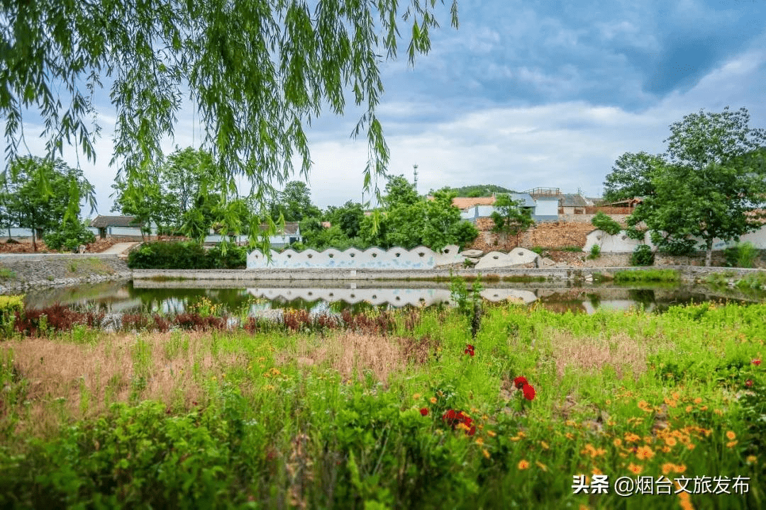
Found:
[[[0, 343], [0, 505], [681, 508], [615, 494], [640, 472], [746, 476], [745, 495], [690, 502], [763, 508], [764, 315], [504, 305], [475, 337], [457, 310], [414, 309], [385, 335], [16, 339]], [[574, 494], [593, 473], [610, 492]]]

